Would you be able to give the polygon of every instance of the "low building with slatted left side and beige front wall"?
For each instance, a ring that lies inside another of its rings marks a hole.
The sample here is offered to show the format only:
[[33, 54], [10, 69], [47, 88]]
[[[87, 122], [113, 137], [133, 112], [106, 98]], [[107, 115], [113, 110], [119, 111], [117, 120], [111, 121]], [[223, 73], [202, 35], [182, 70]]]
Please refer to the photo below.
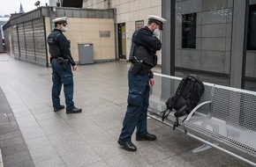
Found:
[[51, 32], [53, 18], [68, 17], [69, 31], [65, 33], [71, 40], [71, 52], [79, 63], [79, 44], [92, 44], [94, 62], [116, 60], [115, 25], [113, 10], [87, 10], [79, 8], [56, 8], [50, 16], [51, 8], [40, 7], [11, 18], [4, 25], [6, 52], [25, 62], [49, 67], [47, 36]]

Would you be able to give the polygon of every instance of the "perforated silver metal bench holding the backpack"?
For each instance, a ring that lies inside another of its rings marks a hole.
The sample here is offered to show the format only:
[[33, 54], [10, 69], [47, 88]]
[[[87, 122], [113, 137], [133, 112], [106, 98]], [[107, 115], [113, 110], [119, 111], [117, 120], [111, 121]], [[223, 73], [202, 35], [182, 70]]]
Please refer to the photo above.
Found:
[[[148, 116], [173, 127], [175, 112], [162, 121], [160, 112], [182, 78], [154, 74], [155, 85], [149, 98]], [[217, 84], [205, 84], [205, 93], [192, 113], [179, 118], [177, 130], [203, 142], [192, 152], [210, 147], [256, 166], [256, 92]], [[182, 122], [184, 120], [184, 122]]]

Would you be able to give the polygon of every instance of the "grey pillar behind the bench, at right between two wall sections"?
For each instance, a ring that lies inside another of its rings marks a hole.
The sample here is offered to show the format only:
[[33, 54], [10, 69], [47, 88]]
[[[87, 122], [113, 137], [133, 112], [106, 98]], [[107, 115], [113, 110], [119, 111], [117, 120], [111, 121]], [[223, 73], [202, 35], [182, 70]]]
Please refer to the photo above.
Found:
[[230, 56], [230, 86], [245, 87], [247, 12], [249, 0], [234, 0]]

